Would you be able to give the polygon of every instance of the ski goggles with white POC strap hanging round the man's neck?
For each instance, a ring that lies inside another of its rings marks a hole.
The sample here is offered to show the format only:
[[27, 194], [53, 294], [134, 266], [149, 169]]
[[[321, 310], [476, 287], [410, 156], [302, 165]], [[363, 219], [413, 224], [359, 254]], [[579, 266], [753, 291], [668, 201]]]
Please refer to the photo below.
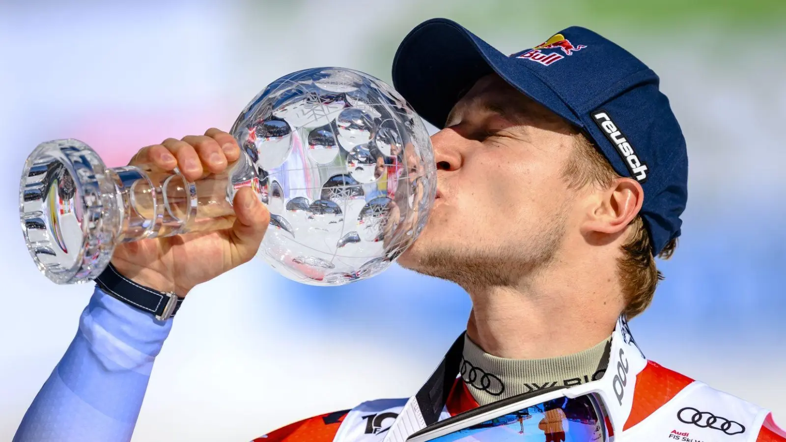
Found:
[[647, 364], [620, 317], [600, 379], [523, 393], [442, 420], [463, 348], [462, 333], [431, 378], [404, 405], [384, 442], [608, 442], [622, 433], [633, 407], [636, 374]]

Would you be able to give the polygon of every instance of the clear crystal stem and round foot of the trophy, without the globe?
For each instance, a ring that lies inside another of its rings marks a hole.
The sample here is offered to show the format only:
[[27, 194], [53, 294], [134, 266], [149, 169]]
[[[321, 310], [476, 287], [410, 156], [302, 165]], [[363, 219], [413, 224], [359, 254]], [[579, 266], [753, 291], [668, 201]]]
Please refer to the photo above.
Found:
[[88, 145], [55, 140], [25, 163], [20, 220], [39, 270], [59, 284], [96, 278], [117, 244], [232, 226], [232, 201], [241, 186], [261, 198], [247, 155], [221, 174], [188, 182], [177, 169], [106, 168]]

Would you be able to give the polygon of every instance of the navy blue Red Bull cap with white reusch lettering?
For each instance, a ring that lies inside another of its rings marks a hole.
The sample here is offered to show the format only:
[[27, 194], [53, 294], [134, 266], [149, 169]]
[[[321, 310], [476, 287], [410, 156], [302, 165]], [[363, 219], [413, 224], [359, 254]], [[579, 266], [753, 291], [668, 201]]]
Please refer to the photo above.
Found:
[[444, 127], [461, 94], [492, 72], [578, 127], [619, 175], [641, 183], [654, 255], [679, 236], [688, 153], [652, 69], [586, 28], [508, 56], [454, 21], [433, 19], [402, 41], [393, 84], [424, 120]]

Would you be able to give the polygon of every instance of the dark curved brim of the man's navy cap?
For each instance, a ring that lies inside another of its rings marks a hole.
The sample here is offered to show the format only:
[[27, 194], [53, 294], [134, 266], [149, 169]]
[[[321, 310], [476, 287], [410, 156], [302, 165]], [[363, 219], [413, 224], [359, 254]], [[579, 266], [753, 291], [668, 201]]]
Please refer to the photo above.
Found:
[[444, 127], [461, 95], [496, 72], [522, 94], [583, 127], [526, 63], [494, 49], [460, 24], [437, 18], [418, 25], [402, 41], [393, 59], [393, 85], [424, 120]]

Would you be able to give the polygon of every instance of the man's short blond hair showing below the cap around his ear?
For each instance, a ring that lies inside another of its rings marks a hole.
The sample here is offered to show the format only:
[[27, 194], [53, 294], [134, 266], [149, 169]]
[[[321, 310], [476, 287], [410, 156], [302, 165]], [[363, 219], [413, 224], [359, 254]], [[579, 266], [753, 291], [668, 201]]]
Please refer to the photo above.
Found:
[[[619, 178], [612, 165], [583, 134], [575, 135], [574, 153], [563, 169], [567, 184], [573, 189], [587, 185], [608, 187]], [[652, 252], [652, 242], [645, 228], [644, 219], [636, 215], [630, 222], [633, 229], [622, 246], [623, 256], [617, 262], [620, 285], [625, 299], [623, 315], [632, 319], [652, 303], [658, 282], [663, 273], [656, 267], [655, 256], [669, 259], [677, 248], [674, 238], [657, 255]]]

